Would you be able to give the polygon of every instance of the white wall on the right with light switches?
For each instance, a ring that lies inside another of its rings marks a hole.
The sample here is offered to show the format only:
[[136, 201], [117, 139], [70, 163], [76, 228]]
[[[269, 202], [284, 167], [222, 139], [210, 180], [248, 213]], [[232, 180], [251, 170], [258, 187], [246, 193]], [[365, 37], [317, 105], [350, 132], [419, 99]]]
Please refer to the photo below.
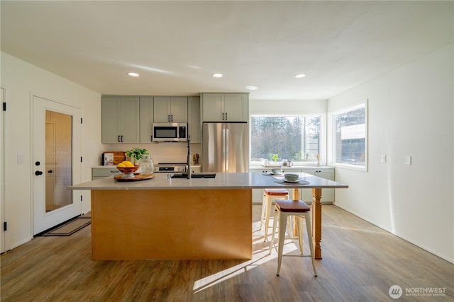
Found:
[[[336, 205], [454, 262], [453, 45], [328, 100], [368, 99], [369, 170], [336, 168]], [[381, 154], [387, 163], [381, 163]], [[404, 156], [412, 164], [404, 165]]]

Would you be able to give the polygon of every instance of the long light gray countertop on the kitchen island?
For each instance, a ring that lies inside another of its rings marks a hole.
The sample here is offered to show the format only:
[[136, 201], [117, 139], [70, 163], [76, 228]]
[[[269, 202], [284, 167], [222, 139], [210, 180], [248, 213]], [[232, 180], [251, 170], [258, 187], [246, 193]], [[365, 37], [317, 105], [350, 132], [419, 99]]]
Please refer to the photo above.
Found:
[[150, 180], [117, 181], [114, 176], [84, 182], [69, 187], [71, 190], [216, 190], [216, 189], [260, 189], [260, 188], [346, 188], [348, 185], [326, 180], [307, 173], [296, 173], [300, 183], [278, 183], [283, 176], [270, 176], [263, 173], [216, 173], [216, 178], [168, 179], [167, 173], [155, 173]]

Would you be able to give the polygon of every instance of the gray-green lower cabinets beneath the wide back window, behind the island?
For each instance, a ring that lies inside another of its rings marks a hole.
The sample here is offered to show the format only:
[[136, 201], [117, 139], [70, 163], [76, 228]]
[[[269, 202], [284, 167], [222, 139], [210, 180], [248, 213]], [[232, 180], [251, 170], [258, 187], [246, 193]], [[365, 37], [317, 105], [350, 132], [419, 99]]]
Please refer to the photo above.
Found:
[[[250, 168], [251, 173], [267, 173], [271, 172], [270, 168]], [[334, 168], [331, 167], [319, 167], [319, 168], [289, 168], [283, 169], [284, 173], [291, 172], [304, 172], [311, 175], [316, 175], [321, 178], [326, 178], [327, 180], [335, 180]], [[270, 176], [271, 177], [271, 176]], [[292, 197], [292, 192], [290, 192], [290, 197]], [[312, 189], [300, 189], [299, 196], [301, 200], [306, 203], [312, 202]], [[263, 197], [262, 189], [253, 189], [253, 203], [261, 204]], [[321, 190], [321, 202], [323, 204], [332, 204], [334, 203], [334, 189], [323, 189]]]

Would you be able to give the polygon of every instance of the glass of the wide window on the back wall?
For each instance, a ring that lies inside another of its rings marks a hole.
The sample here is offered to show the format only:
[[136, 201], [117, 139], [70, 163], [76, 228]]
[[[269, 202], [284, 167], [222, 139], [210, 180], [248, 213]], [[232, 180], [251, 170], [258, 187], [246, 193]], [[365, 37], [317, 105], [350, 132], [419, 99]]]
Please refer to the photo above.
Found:
[[321, 115], [251, 115], [251, 165], [267, 159], [314, 163], [321, 151]]

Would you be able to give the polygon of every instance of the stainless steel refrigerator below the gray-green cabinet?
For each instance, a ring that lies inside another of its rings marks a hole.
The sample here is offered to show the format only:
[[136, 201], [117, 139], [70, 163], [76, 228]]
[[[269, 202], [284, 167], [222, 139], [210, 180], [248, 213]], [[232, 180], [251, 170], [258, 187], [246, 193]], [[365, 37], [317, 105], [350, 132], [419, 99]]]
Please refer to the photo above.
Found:
[[248, 124], [204, 122], [201, 153], [203, 172], [248, 172]]

